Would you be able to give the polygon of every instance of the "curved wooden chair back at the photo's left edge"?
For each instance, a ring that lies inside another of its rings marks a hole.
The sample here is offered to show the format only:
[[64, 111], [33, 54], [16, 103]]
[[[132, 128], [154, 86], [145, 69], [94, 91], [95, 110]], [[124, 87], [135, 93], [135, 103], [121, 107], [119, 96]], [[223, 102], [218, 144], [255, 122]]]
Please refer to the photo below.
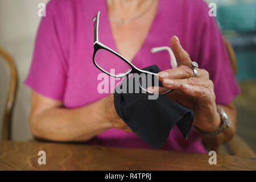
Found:
[[[11, 118], [18, 84], [18, 75], [13, 58], [0, 47], [0, 56], [5, 60], [10, 69], [11, 81], [7, 96], [2, 123], [2, 140], [11, 140]], [[2, 60], [2, 59], [1, 59]]]

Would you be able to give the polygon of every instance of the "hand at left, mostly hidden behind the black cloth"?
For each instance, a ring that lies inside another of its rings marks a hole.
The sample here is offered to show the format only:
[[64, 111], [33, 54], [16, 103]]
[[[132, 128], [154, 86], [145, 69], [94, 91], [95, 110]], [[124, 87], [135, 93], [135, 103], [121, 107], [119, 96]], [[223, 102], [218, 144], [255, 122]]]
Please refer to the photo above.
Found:
[[119, 117], [117, 111], [115, 111], [114, 106], [114, 94], [111, 93], [108, 97], [105, 98], [105, 112], [106, 112], [106, 119], [108, 122], [112, 123], [112, 126], [115, 127], [117, 130], [123, 130], [127, 133], [131, 132], [129, 126]]

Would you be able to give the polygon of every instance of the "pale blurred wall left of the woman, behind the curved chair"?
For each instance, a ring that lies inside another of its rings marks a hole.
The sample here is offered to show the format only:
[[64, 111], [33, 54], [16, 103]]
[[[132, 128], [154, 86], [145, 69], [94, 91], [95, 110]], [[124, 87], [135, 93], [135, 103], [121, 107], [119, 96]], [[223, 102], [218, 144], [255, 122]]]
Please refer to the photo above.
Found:
[[[0, 46], [13, 56], [19, 77], [12, 127], [14, 140], [31, 138], [28, 126], [30, 89], [23, 82], [30, 68], [34, 39], [40, 22], [40, 2], [46, 3], [48, 0], [0, 0]], [[0, 128], [9, 81], [9, 69], [0, 60]]]

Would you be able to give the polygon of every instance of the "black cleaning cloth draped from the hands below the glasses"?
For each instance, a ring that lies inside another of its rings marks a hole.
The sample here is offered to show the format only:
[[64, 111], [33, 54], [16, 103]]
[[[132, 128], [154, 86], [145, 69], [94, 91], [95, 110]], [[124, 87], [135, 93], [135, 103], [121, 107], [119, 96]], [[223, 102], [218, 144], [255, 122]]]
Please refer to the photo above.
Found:
[[[160, 72], [156, 65], [146, 67], [144, 70]], [[131, 77], [126, 77], [122, 82], [126, 80], [126, 84], [130, 79]], [[134, 82], [134, 84], [139, 83]], [[160, 148], [164, 145], [175, 124], [187, 139], [194, 118], [191, 109], [160, 94], [156, 100], [148, 100], [147, 94], [114, 92], [114, 106], [119, 117], [152, 148]]]

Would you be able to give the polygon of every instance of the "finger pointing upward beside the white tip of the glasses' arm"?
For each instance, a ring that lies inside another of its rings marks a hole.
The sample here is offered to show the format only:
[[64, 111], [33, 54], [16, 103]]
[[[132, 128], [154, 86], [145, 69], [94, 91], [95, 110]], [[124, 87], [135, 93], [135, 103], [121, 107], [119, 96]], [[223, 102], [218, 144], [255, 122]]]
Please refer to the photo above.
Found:
[[179, 38], [177, 38], [177, 36], [173, 36], [171, 38], [171, 49], [174, 52], [178, 65], [191, 65], [192, 61], [190, 56], [187, 51], [181, 47]]

